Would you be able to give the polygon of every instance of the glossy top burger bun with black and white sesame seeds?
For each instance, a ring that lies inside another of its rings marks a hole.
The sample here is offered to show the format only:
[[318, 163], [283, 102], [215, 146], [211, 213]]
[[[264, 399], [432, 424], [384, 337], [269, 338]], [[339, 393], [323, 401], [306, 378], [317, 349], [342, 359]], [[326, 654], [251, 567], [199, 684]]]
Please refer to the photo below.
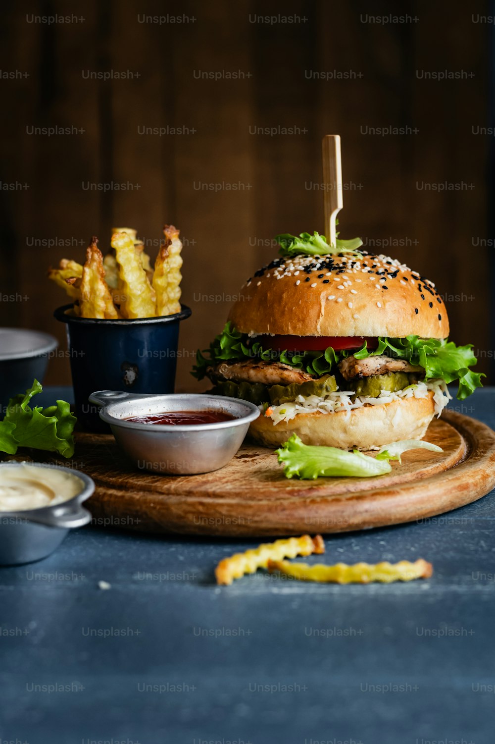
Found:
[[398, 260], [367, 251], [276, 258], [247, 280], [228, 319], [251, 334], [393, 339], [449, 334], [433, 282]]

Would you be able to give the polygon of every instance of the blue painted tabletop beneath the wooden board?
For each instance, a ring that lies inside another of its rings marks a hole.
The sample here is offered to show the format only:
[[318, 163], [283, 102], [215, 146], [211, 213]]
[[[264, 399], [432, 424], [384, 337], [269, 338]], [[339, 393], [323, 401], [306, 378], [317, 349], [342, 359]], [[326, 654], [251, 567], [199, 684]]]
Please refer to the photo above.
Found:
[[[495, 388], [452, 407], [495, 427]], [[494, 519], [492, 493], [326, 539], [326, 561], [433, 562], [392, 586], [219, 589], [253, 542], [77, 530], [0, 569], [0, 741], [493, 744]]]

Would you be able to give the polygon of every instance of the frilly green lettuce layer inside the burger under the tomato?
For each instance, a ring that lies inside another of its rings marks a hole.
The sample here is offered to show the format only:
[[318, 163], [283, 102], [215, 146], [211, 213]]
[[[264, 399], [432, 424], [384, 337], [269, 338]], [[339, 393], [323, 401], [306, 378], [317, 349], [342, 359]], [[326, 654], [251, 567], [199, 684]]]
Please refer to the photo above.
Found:
[[[230, 322], [225, 324], [224, 330], [213, 339], [209, 349], [198, 350], [193, 376], [203, 379], [210, 365], [219, 362], [245, 362], [247, 359], [259, 359], [262, 362], [282, 362], [308, 374], [320, 377], [330, 374], [342, 359], [346, 359], [351, 351], [335, 351], [331, 346], [325, 351], [304, 351], [294, 353], [290, 351], [275, 351], [263, 349], [259, 341], [252, 341], [247, 334], [239, 333]], [[412, 365], [424, 368], [425, 379], [440, 378], [445, 382], [459, 380], [457, 398], [465, 400], [476, 388], [482, 386], [481, 378], [484, 374], [471, 371], [469, 368], [476, 364], [472, 344], [456, 346], [453, 341], [445, 339], [421, 339], [419, 336], [406, 336], [405, 339], [387, 339], [378, 337], [378, 347], [370, 351], [363, 346], [355, 351], [356, 359], [366, 359], [367, 356], [386, 354], [395, 359], [407, 359]]]

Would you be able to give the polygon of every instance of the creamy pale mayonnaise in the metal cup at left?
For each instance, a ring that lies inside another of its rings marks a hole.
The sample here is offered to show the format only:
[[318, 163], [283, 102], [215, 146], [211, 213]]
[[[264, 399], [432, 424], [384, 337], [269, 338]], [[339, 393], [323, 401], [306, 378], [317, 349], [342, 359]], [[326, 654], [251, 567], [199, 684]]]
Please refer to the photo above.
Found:
[[84, 483], [62, 469], [22, 463], [0, 466], [0, 512], [41, 509], [81, 493]]

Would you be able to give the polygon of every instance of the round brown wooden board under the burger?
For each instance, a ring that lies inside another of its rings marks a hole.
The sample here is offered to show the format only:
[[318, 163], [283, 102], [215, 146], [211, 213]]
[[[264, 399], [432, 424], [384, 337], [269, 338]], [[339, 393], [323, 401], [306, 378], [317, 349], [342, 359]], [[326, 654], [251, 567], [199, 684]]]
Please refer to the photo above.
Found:
[[270, 449], [250, 445], [216, 472], [154, 475], [132, 466], [111, 434], [78, 434], [73, 466], [94, 478], [85, 505], [97, 525], [218, 536], [344, 532], [441, 514], [495, 487], [488, 426], [444, 411], [424, 438], [443, 454], [406, 452], [378, 478], [288, 480]]

